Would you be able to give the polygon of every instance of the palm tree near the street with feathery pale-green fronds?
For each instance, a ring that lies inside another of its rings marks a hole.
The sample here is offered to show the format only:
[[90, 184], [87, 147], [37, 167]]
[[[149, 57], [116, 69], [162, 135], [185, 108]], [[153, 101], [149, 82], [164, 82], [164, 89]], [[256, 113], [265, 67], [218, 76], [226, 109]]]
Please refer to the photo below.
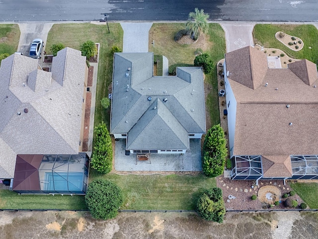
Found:
[[191, 32], [192, 39], [198, 39], [201, 33], [206, 33], [208, 30], [209, 14], [204, 13], [204, 10], [199, 10], [197, 7], [194, 12], [189, 13], [188, 21], [185, 23], [186, 29]]

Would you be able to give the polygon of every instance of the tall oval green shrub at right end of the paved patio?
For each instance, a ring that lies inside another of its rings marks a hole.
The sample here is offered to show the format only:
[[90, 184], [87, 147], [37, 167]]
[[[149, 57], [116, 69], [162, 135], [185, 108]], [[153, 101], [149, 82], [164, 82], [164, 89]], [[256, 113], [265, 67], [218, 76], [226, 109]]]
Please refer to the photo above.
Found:
[[209, 177], [223, 173], [225, 157], [228, 154], [227, 140], [220, 124], [214, 125], [205, 135], [203, 144], [203, 172]]

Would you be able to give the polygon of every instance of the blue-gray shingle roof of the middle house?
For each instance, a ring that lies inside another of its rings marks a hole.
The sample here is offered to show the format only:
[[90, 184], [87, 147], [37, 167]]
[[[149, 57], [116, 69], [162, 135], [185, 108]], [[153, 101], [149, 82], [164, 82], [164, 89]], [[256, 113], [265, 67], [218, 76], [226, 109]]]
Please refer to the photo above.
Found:
[[[150, 114], [154, 102], [163, 107]], [[154, 134], [147, 125], [165, 130]], [[110, 133], [128, 133], [127, 147], [132, 149], [157, 145], [168, 150], [189, 148], [188, 134], [205, 131], [202, 68], [179, 67], [177, 76], [153, 76], [153, 53], [115, 53]]]

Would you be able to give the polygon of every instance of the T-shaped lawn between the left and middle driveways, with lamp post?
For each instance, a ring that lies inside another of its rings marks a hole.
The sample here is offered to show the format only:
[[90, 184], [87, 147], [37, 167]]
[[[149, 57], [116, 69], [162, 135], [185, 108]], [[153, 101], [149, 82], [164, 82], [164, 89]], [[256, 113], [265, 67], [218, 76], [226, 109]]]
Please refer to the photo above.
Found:
[[110, 113], [101, 107], [100, 99], [108, 97], [108, 87], [112, 82], [113, 55], [111, 47], [116, 45], [120, 49], [123, 48], [124, 32], [119, 23], [109, 23], [108, 25], [110, 33], [108, 33], [107, 25], [54, 24], [48, 34], [46, 52], [50, 54], [52, 44], [59, 42], [78, 50], [79, 46], [87, 40], [100, 43], [94, 125], [104, 121], [109, 128]]

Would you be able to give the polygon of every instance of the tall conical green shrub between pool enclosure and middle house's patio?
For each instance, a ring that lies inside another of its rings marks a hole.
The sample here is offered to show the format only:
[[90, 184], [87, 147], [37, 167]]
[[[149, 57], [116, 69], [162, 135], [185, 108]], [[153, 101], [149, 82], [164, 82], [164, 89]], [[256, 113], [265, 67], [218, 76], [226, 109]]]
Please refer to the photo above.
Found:
[[101, 122], [95, 127], [96, 140], [90, 160], [90, 166], [100, 173], [109, 173], [112, 169], [113, 148], [106, 124]]

